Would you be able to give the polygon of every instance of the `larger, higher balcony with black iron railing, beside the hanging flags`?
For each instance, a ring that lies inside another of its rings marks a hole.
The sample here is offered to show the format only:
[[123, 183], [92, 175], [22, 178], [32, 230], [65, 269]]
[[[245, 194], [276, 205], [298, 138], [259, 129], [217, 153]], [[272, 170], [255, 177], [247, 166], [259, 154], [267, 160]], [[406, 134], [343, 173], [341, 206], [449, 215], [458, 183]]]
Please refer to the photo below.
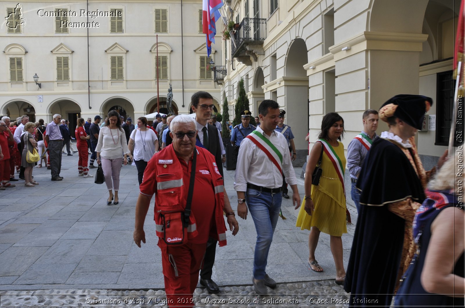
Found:
[[259, 55], [264, 55], [263, 42], [266, 39], [266, 19], [244, 18], [234, 32], [231, 54], [246, 65], [252, 65]]

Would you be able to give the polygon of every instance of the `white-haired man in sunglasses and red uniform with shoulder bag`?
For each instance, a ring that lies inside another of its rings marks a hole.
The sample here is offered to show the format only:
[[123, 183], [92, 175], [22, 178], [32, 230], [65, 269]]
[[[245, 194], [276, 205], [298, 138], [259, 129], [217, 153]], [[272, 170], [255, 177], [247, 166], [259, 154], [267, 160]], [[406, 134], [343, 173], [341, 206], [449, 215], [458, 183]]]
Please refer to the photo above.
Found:
[[[231, 205], [225, 202], [223, 178], [214, 156], [206, 149], [195, 146], [197, 129], [193, 118], [188, 115], [176, 116], [171, 122], [171, 130], [173, 143], [155, 154], [147, 164], [136, 205], [133, 237], [139, 247], [141, 241], [146, 242], [144, 220], [155, 194], [154, 220], [162, 254], [167, 303], [169, 307], [192, 307], [195, 306], [193, 292], [208, 237], [217, 238], [220, 246], [226, 245], [223, 212], [233, 235], [239, 231], [239, 225]], [[185, 244], [167, 245], [161, 238], [163, 221], [159, 211], [184, 211], [194, 155], [196, 167], [188, 240]]]

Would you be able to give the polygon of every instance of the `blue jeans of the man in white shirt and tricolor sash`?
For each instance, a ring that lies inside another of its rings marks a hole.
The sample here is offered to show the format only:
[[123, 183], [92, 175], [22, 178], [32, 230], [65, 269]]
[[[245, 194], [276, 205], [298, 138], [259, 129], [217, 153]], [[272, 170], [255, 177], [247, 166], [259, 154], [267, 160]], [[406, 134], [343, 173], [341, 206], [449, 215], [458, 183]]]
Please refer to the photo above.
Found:
[[263, 279], [266, 275], [268, 252], [273, 240], [274, 229], [281, 210], [281, 193], [264, 193], [247, 189], [246, 201], [257, 231], [257, 243], [253, 260], [253, 277]]

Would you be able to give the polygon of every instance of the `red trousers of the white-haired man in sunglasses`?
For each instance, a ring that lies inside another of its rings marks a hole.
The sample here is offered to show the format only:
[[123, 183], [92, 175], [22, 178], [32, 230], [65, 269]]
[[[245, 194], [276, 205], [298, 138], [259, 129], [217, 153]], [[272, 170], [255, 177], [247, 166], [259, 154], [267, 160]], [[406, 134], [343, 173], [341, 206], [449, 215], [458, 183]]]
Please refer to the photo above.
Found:
[[193, 293], [199, 281], [206, 243], [171, 246], [159, 238], [168, 307], [193, 307]]

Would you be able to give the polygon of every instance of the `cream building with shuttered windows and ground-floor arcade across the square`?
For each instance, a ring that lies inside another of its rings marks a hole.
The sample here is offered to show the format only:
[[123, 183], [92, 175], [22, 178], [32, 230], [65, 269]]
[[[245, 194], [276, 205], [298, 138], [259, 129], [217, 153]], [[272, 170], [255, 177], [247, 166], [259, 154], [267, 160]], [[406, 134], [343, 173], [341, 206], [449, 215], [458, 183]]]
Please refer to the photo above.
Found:
[[210, 92], [219, 110], [209, 63], [221, 57], [215, 45], [207, 57], [201, 0], [25, 0], [0, 9], [1, 115], [50, 122], [58, 113], [72, 128], [80, 116], [111, 109], [137, 119], [168, 113], [170, 85], [175, 113], [189, 113], [198, 90]]

